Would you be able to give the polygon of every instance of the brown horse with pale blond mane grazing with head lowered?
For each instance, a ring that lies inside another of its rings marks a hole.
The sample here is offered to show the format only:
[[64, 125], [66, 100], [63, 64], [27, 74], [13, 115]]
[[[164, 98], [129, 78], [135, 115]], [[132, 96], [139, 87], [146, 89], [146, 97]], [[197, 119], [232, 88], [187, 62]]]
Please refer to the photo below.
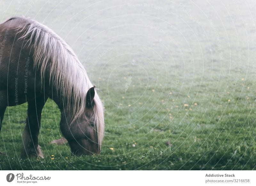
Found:
[[6, 107], [27, 102], [23, 158], [44, 158], [38, 134], [48, 98], [60, 109], [60, 130], [71, 153], [99, 154], [104, 106], [76, 54], [36, 20], [10, 17], [0, 24], [0, 131]]

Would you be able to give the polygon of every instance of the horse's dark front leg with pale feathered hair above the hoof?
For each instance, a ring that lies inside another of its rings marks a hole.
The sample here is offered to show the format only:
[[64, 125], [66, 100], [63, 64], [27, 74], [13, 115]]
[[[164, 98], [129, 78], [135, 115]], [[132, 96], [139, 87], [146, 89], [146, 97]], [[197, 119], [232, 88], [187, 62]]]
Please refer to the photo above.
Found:
[[38, 145], [38, 134], [41, 127], [41, 114], [48, 97], [36, 97], [28, 101], [27, 120], [22, 134], [23, 147], [21, 157], [44, 158], [40, 146]]

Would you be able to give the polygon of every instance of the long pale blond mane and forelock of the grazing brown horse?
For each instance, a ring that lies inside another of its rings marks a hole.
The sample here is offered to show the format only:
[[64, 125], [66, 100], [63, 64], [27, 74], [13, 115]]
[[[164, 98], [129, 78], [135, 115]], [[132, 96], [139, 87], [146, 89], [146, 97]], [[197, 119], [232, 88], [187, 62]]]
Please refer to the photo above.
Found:
[[[41, 68], [41, 78], [44, 80], [46, 67], [50, 65], [50, 79], [52, 78], [57, 89], [62, 91], [67, 104], [73, 103], [75, 121], [84, 114], [86, 93], [92, 87], [84, 66], [71, 47], [50, 28], [25, 17], [11, 17], [6, 21], [18, 18], [22, 19], [22, 24], [17, 27], [18, 33], [22, 34], [19, 39], [24, 39], [26, 44], [34, 47], [34, 67]], [[100, 97], [95, 92], [94, 123], [100, 146], [104, 136], [103, 109]]]

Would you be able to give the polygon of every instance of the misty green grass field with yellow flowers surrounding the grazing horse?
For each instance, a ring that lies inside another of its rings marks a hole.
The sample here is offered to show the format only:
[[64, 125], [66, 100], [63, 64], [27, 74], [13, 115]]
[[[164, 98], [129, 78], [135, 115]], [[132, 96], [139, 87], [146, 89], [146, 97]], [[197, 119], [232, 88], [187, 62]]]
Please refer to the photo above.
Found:
[[48, 100], [39, 136], [45, 158], [20, 159], [26, 104], [8, 107], [1, 170], [256, 169], [253, 6], [29, 3], [3, 3], [0, 17], [28, 15], [74, 48], [100, 89], [105, 139], [95, 156], [53, 146], [62, 136], [60, 112]]

